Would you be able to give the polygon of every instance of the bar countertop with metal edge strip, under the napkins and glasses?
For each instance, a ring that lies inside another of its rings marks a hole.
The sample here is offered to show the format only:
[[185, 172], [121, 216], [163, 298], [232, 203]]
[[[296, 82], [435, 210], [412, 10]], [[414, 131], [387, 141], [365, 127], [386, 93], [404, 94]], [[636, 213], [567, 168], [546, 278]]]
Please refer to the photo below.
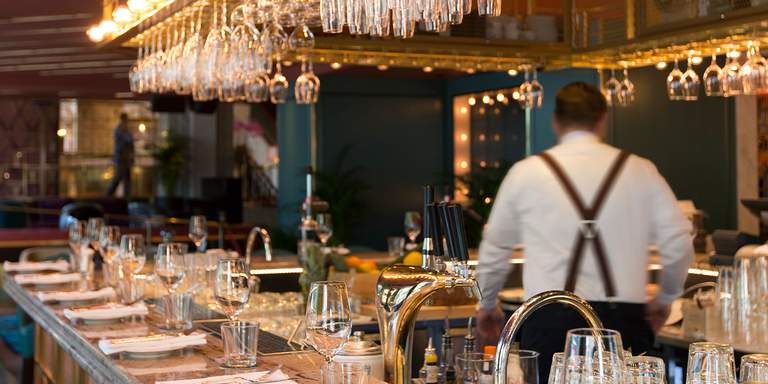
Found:
[[[73, 324], [62, 315], [65, 306], [43, 304], [35, 295], [35, 292], [41, 290], [76, 290], [82, 287], [82, 284], [61, 284], [40, 289], [35, 286], [20, 286], [12, 274], [5, 273], [3, 276], [3, 288], [7, 294], [80, 365], [89, 376], [88, 382], [152, 384], [156, 381], [267, 371], [278, 366], [291, 380], [299, 384], [320, 381], [319, 370], [324, 364], [323, 360], [318, 354], [307, 351], [265, 355], [260, 353], [258, 366], [255, 368], [222, 368], [222, 342], [219, 336], [213, 333], [208, 334], [206, 345], [191, 347], [167, 357], [141, 360], [127, 359], [121, 355], [105, 355], [97, 345], [100, 338], [105, 335], [108, 338], [119, 338], [161, 333], [163, 331], [158, 328], [161, 318], [155, 312], [156, 308], [150, 306], [150, 315], [145, 319], [112, 324]], [[194, 327], [199, 327], [199, 323], [195, 322]]]

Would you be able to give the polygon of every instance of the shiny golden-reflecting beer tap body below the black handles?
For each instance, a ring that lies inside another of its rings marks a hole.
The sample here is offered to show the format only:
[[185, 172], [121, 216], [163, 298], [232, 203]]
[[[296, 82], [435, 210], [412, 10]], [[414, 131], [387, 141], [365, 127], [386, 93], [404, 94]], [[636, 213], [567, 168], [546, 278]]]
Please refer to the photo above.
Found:
[[469, 288], [480, 297], [480, 287], [471, 278], [408, 265], [393, 265], [381, 272], [376, 284], [376, 312], [390, 383], [411, 381], [413, 329], [419, 308], [433, 293], [454, 287]]

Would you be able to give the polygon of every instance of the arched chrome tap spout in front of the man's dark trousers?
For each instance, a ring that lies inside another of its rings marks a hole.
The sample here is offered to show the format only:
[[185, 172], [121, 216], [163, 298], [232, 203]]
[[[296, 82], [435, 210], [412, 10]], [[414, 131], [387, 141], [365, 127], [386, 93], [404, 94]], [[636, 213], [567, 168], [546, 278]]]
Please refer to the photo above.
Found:
[[[496, 345], [496, 364], [493, 369], [493, 383], [494, 384], [506, 384], [507, 383], [507, 362], [509, 357], [509, 349], [512, 346], [512, 342], [515, 340], [515, 335], [520, 330], [520, 326], [523, 322], [537, 309], [553, 304], [567, 304], [573, 307], [584, 320], [587, 321], [591, 328], [602, 328], [603, 323], [597, 316], [592, 307], [584, 299], [574, 295], [573, 293], [566, 291], [548, 291], [542, 292], [536, 296], [526, 300], [520, 308], [518, 308], [512, 317], [507, 320], [507, 324], [504, 325], [504, 329], [501, 331], [501, 337], [499, 343]], [[548, 358], [548, 357], [547, 357]]]

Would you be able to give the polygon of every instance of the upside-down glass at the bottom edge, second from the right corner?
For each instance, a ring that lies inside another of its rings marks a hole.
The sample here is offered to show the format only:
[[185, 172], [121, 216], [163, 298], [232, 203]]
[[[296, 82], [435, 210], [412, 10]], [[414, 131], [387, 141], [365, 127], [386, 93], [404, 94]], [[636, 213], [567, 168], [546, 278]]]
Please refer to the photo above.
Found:
[[692, 343], [688, 347], [686, 384], [734, 384], [733, 347], [720, 343]]

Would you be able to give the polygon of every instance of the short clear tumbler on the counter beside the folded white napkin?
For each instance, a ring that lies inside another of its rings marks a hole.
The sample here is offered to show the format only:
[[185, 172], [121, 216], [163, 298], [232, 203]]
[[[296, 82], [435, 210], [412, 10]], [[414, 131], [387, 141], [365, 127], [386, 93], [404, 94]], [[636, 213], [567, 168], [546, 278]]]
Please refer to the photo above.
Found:
[[259, 323], [231, 321], [221, 325], [224, 343], [224, 363], [228, 368], [250, 368], [256, 366], [259, 346]]

